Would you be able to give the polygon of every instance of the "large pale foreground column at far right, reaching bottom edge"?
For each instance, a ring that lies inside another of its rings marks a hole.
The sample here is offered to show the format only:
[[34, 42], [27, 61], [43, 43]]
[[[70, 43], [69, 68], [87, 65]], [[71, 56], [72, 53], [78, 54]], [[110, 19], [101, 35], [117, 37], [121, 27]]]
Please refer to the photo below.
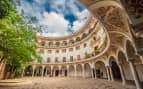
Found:
[[130, 66], [130, 69], [131, 69], [131, 72], [132, 72], [132, 75], [133, 75], [133, 78], [134, 78], [134, 81], [135, 81], [135, 84], [136, 84], [136, 88], [137, 89], [142, 89], [140, 81], [139, 81], [139, 76], [137, 74], [137, 70], [136, 70], [136, 68], [133, 64], [133, 59], [129, 60], [129, 66]]

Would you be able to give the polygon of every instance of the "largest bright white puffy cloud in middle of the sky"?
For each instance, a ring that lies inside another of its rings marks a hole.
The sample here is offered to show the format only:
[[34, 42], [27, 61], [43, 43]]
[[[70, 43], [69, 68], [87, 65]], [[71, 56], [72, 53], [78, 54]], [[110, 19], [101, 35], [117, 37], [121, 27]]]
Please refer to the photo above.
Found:
[[68, 20], [65, 20], [64, 17], [55, 12], [47, 13], [44, 12], [44, 18], [40, 21], [41, 25], [46, 25], [48, 28], [48, 35], [65, 35], [67, 34], [67, 29], [69, 28]]

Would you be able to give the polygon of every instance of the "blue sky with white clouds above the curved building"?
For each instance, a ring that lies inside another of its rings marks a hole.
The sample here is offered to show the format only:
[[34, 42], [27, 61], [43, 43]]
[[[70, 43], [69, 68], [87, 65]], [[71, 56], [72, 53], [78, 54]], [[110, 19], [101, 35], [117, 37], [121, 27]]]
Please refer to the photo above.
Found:
[[79, 30], [90, 17], [90, 13], [77, 0], [20, 0], [19, 13], [25, 17], [36, 17], [34, 26], [42, 26], [42, 35], [60, 37]]

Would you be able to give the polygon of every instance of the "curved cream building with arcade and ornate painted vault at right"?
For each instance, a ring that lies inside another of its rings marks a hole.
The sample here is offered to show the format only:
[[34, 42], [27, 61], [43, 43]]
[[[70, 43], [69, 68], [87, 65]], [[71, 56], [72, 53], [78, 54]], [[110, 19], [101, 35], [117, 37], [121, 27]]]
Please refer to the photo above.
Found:
[[[38, 36], [42, 63], [31, 63], [31, 76], [100, 78], [143, 82], [142, 31], [134, 30], [120, 0], [79, 0], [94, 17], [70, 36]], [[132, 18], [132, 16], [131, 16]], [[136, 20], [136, 19], [135, 19]], [[141, 26], [141, 25], [139, 25]], [[136, 28], [142, 29], [142, 27]]]

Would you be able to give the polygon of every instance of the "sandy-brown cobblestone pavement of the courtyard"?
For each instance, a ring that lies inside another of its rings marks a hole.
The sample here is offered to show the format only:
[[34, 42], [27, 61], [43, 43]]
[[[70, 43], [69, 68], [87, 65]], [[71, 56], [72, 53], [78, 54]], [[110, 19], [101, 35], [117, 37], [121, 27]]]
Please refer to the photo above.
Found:
[[135, 86], [123, 86], [120, 82], [83, 78], [24, 78], [30, 84], [0, 89], [136, 89]]

